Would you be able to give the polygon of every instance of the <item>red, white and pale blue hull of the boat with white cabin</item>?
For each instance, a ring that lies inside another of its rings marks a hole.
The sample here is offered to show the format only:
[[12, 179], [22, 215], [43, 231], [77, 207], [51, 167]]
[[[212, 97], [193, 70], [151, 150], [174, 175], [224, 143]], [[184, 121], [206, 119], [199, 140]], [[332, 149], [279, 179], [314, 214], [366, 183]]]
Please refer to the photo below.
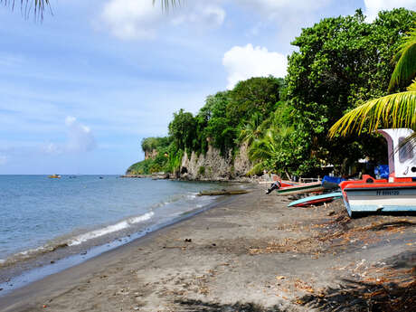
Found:
[[343, 189], [351, 217], [362, 213], [416, 212], [416, 184], [353, 184]]

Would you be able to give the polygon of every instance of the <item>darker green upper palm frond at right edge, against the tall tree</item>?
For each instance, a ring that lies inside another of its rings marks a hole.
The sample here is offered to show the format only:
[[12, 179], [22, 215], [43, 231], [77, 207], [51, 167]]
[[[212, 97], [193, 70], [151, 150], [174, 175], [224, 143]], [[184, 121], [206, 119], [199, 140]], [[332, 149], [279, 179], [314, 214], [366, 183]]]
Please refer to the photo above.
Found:
[[397, 87], [408, 85], [416, 76], [416, 29], [412, 29], [404, 38], [393, 61], [397, 63], [390, 79], [390, 92]]

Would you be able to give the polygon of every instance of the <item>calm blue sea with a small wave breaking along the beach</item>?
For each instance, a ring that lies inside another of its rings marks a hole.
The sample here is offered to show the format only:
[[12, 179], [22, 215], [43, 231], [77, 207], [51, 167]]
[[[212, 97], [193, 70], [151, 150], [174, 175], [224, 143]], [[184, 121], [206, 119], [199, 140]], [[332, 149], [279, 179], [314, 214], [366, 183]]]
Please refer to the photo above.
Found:
[[200, 213], [222, 196], [198, 193], [223, 187], [118, 175], [0, 175], [0, 296]]

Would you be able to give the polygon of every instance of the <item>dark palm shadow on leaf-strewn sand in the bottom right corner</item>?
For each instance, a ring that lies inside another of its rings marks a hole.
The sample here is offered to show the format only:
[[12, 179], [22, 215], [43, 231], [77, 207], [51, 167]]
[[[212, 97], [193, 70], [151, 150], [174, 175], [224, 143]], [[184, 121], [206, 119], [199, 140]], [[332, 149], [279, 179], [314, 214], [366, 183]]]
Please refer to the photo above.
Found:
[[[390, 227], [398, 224], [384, 223]], [[400, 224], [406, 226], [409, 224]], [[373, 230], [377, 231], [377, 228]], [[414, 311], [416, 307], [416, 251], [385, 259], [384, 274], [373, 281], [343, 279], [339, 288], [307, 295], [299, 303], [319, 311]]]

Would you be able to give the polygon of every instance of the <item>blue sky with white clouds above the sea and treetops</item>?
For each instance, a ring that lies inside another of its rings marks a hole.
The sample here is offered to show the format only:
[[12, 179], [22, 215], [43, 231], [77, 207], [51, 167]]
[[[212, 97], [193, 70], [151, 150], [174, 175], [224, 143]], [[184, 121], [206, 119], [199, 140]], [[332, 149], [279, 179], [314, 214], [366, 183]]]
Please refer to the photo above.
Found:
[[[33, 0], [34, 2], [34, 0]], [[286, 75], [301, 29], [414, 0], [51, 0], [40, 22], [0, 5], [0, 175], [123, 174], [239, 80]]]

